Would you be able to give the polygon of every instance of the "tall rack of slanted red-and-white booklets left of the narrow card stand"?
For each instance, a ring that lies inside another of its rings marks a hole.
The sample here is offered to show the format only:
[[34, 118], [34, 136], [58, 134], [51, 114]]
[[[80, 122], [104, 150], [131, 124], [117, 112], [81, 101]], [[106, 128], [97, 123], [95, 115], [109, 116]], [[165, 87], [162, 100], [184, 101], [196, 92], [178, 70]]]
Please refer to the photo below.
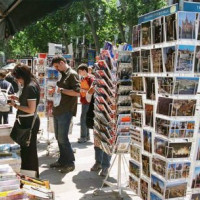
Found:
[[[102, 50], [101, 59], [95, 69], [94, 145], [100, 147], [108, 155], [112, 154], [116, 140], [116, 75], [114, 70], [115, 63], [109, 50]], [[123, 145], [119, 146], [123, 148]]]

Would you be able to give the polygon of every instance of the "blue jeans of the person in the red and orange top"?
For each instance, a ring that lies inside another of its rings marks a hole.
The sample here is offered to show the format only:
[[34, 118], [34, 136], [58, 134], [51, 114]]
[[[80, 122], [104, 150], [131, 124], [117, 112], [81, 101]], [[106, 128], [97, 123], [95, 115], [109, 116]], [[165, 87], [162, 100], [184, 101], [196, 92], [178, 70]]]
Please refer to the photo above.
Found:
[[89, 137], [89, 128], [86, 125], [86, 115], [90, 104], [82, 104], [81, 111], [81, 138]]

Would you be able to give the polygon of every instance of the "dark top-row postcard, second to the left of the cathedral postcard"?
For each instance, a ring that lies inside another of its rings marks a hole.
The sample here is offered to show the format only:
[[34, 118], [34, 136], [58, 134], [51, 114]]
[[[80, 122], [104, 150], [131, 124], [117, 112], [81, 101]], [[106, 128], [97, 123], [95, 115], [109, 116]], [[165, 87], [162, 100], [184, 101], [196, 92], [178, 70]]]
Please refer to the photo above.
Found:
[[152, 39], [153, 44], [162, 43], [164, 41], [164, 22], [163, 17], [154, 19], [152, 22]]

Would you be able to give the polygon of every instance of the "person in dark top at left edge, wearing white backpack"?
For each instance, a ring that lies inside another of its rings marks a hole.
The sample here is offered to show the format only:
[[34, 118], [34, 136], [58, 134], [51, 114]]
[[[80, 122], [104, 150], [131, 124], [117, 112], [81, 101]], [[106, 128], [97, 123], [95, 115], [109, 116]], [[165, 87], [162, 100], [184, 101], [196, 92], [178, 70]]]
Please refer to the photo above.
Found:
[[[14, 88], [11, 83], [5, 80], [6, 70], [0, 70], [0, 88], [1, 91], [8, 94], [14, 94]], [[9, 105], [0, 106], [0, 124], [8, 124]]]

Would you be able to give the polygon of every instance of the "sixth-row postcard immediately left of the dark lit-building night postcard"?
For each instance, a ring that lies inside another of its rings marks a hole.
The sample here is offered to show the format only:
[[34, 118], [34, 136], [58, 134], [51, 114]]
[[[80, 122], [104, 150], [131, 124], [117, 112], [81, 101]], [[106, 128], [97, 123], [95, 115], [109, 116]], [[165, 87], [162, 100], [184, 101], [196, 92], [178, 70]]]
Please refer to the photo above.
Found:
[[167, 146], [168, 146], [167, 141], [165, 141], [161, 138], [155, 137], [155, 139], [154, 139], [154, 151], [155, 151], [155, 153], [157, 153], [157, 154], [159, 154], [163, 157], [166, 157]]

